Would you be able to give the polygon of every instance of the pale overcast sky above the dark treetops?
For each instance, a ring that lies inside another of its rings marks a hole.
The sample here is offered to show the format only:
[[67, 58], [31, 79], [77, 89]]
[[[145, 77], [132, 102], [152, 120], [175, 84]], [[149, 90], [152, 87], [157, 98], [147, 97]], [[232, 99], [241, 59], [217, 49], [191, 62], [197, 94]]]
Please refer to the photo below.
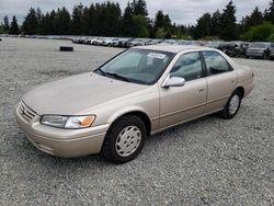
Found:
[[[90, 5], [92, 2], [104, 2], [105, 0], [0, 0], [0, 22], [5, 14], [10, 20], [12, 15], [16, 15], [22, 22], [26, 12], [31, 7], [39, 7], [43, 12], [66, 7], [70, 12], [73, 5], [80, 2], [83, 5]], [[132, 1], [132, 0], [130, 0]], [[195, 24], [196, 20], [205, 12], [214, 12], [217, 9], [222, 10], [229, 0], [147, 0], [149, 16], [153, 18], [156, 12], [162, 10], [168, 13], [171, 20], [180, 24]], [[128, 0], [116, 0], [124, 10]], [[237, 5], [237, 19], [250, 14], [250, 12], [259, 7], [261, 11], [269, 8], [270, 0], [233, 0]]]

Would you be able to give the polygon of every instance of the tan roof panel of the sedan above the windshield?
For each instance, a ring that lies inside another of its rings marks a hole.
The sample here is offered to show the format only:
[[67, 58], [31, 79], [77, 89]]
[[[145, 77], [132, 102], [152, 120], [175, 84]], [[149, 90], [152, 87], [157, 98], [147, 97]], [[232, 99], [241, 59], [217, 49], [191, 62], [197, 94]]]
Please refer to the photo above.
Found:
[[181, 53], [181, 52], [189, 52], [189, 50], [214, 50], [212, 48], [203, 47], [203, 46], [195, 46], [195, 45], [149, 45], [149, 46], [136, 46], [134, 48], [139, 49], [148, 49], [148, 50], [159, 50], [159, 52], [167, 52], [167, 53]]

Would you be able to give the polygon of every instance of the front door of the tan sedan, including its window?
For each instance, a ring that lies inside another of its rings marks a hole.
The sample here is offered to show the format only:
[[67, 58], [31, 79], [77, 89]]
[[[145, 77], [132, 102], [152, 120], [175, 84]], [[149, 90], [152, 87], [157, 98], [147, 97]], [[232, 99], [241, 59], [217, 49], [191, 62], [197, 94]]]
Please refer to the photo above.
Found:
[[182, 55], [170, 77], [185, 79], [183, 87], [160, 88], [160, 129], [201, 116], [205, 112], [206, 78], [199, 53]]

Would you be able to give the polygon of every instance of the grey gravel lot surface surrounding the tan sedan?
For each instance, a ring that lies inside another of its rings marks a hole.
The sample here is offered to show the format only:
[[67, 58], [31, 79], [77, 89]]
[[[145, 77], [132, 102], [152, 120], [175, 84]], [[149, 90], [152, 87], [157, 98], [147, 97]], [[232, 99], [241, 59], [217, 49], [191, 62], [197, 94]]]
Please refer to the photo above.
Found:
[[208, 116], [148, 139], [140, 156], [114, 165], [100, 156], [59, 159], [35, 149], [13, 106], [43, 82], [96, 68], [118, 48], [66, 41], [0, 43], [0, 205], [274, 205], [274, 62], [236, 59], [255, 89], [236, 118]]

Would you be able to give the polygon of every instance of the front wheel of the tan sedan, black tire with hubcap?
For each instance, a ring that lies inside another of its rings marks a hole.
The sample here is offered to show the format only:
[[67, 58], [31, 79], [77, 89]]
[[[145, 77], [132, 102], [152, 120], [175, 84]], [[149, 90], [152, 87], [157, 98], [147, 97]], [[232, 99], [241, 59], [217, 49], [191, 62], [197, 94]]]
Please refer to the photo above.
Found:
[[146, 125], [138, 116], [122, 116], [106, 133], [102, 154], [112, 163], [128, 162], [140, 153], [146, 136]]

